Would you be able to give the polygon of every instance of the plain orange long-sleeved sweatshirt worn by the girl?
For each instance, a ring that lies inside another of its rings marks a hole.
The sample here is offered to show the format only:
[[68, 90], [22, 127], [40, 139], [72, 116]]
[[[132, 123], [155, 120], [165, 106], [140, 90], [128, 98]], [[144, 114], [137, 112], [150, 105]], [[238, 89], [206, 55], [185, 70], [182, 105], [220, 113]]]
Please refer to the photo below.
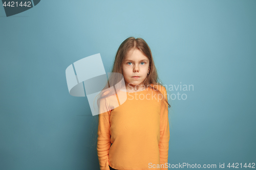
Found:
[[100, 170], [110, 170], [109, 165], [118, 170], [168, 169], [168, 105], [163, 102], [167, 93], [164, 86], [154, 87], [164, 96], [148, 87], [138, 92], [120, 91], [127, 99], [114, 109], [111, 101], [117, 95], [100, 101], [100, 107], [109, 110], [99, 114]]

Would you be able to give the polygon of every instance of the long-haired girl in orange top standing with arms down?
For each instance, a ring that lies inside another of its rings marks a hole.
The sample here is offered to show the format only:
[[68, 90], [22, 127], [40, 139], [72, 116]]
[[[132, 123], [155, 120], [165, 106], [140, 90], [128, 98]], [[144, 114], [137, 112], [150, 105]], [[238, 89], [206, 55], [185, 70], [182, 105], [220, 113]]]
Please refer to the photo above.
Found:
[[[125, 39], [111, 72], [123, 76], [125, 89], [111, 75], [97, 100], [100, 170], [167, 169], [170, 105], [150, 47], [142, 38]], [[127, 97], [122, 104], [120, 96]]]

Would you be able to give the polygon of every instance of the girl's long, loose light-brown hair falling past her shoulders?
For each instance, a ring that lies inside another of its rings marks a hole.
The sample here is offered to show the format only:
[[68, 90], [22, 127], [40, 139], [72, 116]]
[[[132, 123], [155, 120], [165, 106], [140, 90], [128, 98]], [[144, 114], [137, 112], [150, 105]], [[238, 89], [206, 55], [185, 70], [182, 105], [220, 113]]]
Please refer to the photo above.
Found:
[[[162, 87], [164, 86], [161, 82], [161, 80], [159, 79], [158, 77], [158, 74], [157, 74], [157, 69], [155, 67], [155, 63], [154, 63], [154, 60], [153, 60], [153, 56], [152, 56], [152, 52], [151, 52], [151, 49], [150, 47], [148, 46], [148, 44], [146, 43], [146, 41], [142, 38], [134, 38], [134, 37], [129, 37], [129, 38], [126, 38], [119, 46], [118, 50], [117, 50], [117, 53], [116, 53], [116, 56], [115, 56], [115, 61], [113, 63], [113, 66], [112, 66], [112, 70], [111, 72], [112, 73], [119, 73], [121, 75], [123, 75], [123, 72], [122, 72], [122, 64], [123, 64], [123, 61], [125, 59], [125, 57], [127, 56], [128, 52], [130, 50], [132, 50], [133, 48], [137, 48], [138, 50], [140, 50], [149, 60], [149, 64], [150, 64], [150, 72], [149, 74], [146, 76], [143, 84], [144, 84], [144, 87], [150, 87], [151, 89], [157, 91], [157, 93], [161, 93], [161, 91], [159, 90], [159, 88], [156, 88], [155, 86], [157, 87]], [[103, 90], [99, 93], [99, 98], [97, 100], [97, 104], [99, 106], [99, 101], [102, 99], [102, 98], [106, 98], [107, 96], [109, 95], [112, 95], [112, 94], [115, 94], [115, 91], [114, 90], [108, 90], [107, 92], [105, 91], [106, 89], [110, 89], [109, 87], [114, 87], [116, 85], [117, 82], [120, 82], [121, 80], [121, 77], [120, 76], [116, 76], [115, 74], [111, 75], [109, 77], [109, 80], [108, 82], [105, 84], [105, 87], [103, 88]], [[160, 86], [159, 86], [160, 85]], [[167, 92], [167, 87], [166, 88], [166, 92]], [[113, 88], [112, 88], [113, 89]], [[162, 93], [161, 93], [162, 94]], [[163, 95], [163, 94], [162, 94]], [[168, 105], [168, 108], [170, 107], [169, 103], [168, 103], [168, 100], [165, 99], [164, 97], [164, 101], [167, 103]], [[95, 119], [96, 119], [96, 122], [97, 122], [97, 125], [98, 125], [98, 116], [99, 115], [96, 115], [94, 116]], [[94, 134], [97, 134], [94, 132]], [[95, 136], [95, 138], [97, 137], [97, 135]], [[97, 142], [97, 140], [94, 140]], [[95, 142], [94, 142], [95, 144]], [[93, 145], [94, 145], [93, 144]], [[97, 144], [96, 144], [96, 147], [97, 147]]]

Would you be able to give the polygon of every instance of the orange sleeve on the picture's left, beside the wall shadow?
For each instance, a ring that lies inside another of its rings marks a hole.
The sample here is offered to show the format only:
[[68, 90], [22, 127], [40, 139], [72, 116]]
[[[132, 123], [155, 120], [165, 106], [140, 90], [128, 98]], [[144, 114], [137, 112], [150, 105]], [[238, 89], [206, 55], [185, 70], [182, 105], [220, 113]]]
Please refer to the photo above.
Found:
[[[103, 112], [102, 110], [104, 110], [105, 112]], [[99, 106], [100, 114], [99, 114], [99, 125], [98, 125], [98, 132], [97, 132], [98, 134], [97, 153], [98, 153], [100, 170], [110, 170], [110, 167], [109, 167], [109, 149], [111, 146], [110, 112], [111, 110], [109, 109], [108, 104], [106, 103], [106, 100], [105, 99], [101, 100], [100, 106]]]

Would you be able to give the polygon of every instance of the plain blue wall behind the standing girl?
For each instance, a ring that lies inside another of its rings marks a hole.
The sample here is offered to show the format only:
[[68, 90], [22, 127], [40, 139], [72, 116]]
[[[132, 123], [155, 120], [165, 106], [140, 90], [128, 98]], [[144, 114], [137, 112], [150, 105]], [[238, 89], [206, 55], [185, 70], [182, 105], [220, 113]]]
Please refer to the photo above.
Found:
[[129, 36], [150, 45], [172, 100], [168, 162], [256, 162], [256, 1], [41, 1], [0, 7], [0, 169], [99, 169], [87, 98], [65, 70], [100, 53], [110, 72]]

